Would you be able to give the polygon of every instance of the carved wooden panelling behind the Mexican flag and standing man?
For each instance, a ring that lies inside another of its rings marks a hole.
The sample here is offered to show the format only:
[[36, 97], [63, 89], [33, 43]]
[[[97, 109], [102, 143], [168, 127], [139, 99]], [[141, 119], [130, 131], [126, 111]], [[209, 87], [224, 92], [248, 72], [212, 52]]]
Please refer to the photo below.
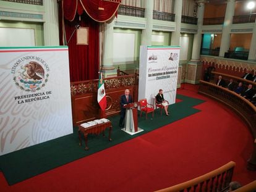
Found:
[[73, 124], [101, 117], [109, 117], [120, 112], [120, 96], [129, 89], [134, 101], [138, 100], [138, 75], [123, 75], [105, 78], [107, 107], [105, 114], [101, 114], [97, 102], [98, 80], [77, 81], [70, 83], [72, 99]]

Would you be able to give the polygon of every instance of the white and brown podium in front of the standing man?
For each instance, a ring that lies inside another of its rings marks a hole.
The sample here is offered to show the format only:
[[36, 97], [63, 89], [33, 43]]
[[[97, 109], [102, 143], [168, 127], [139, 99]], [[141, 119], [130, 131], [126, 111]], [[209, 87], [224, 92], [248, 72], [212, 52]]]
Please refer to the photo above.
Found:
[[138, 127], [138, 112], [137, 112], [138, 103], [132, 102], [124, 106], [126, 108], [126, 117], [124, 118], [124, 128], [121, 130], [134, 135], [143, 131]]

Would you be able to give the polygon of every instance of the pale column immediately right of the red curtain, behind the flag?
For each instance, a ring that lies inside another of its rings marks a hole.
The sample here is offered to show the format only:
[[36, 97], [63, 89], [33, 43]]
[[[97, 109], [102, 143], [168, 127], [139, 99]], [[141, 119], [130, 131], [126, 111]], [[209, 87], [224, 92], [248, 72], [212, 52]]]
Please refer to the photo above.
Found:
[[102, 67], [103, 75], [106, 78], [108, 75], [116, 74], [113, 66], [113, 36], [114, 36], [114, 21], [111, 23], [103, 23], [101, 28], [103, 28], [103, 53], [102, 62], [100, 69]]

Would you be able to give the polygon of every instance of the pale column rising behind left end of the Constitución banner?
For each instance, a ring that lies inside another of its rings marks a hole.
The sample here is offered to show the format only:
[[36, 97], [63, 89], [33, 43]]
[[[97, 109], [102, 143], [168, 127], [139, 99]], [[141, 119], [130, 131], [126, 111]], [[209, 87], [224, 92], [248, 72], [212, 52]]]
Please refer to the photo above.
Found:
[[142, 30], [142, 45], [151, 45], [152, 28], [153, 28], [153, 0], [146, 1], [145, 17], [147, 19], [146, 28]]

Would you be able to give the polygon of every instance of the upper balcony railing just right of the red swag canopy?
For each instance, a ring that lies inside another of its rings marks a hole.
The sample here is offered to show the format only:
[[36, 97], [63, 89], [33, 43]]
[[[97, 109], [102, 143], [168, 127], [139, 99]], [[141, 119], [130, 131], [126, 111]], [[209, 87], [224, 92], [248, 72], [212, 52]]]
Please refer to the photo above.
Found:
[[117, 14], [132, 17], [145, 17], [145, 9], [140, 7], [120, 5], [117, 10]]

